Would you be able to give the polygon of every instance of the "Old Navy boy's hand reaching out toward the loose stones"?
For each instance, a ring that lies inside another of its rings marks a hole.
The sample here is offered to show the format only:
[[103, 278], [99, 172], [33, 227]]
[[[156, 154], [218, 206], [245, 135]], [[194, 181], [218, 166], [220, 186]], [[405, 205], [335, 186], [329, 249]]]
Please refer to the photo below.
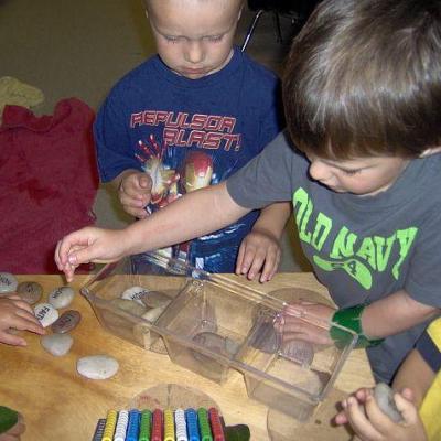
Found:
[[71, 282], [82, 263], [119, 260], [128, 251], [123, 230], [86, 227], [65, 236], [55, 248], [55, 262]]

